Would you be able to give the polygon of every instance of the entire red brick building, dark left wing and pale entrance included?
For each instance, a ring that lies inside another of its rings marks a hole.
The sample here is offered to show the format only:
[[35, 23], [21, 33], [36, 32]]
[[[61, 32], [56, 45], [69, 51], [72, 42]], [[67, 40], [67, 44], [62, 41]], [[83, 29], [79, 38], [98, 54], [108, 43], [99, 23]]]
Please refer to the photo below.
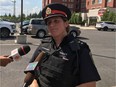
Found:
[[50, 3], [61, 3], [67, 6], [72, 12], [82, 12], [83, 20], [101, 20], [101, 16], [107, 9], [116, 12], [116, 0], [42, 0], [42, 6]]

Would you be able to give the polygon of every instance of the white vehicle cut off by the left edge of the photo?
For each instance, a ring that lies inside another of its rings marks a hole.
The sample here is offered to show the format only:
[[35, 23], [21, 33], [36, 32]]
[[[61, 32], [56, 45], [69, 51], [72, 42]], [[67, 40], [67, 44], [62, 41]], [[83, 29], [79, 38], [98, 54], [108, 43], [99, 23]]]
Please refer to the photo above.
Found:
[[16, 32], [16, 25], [13, 22], [8, 22], [0, 19], [0, 37], [6, 38]]

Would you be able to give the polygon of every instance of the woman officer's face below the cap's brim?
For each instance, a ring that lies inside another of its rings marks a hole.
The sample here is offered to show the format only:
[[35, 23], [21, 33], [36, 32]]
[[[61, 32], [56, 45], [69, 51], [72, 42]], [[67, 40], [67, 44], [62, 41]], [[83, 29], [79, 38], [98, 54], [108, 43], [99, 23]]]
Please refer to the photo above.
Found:
[[53, 37], [62, 37], [67, 35], [66, 27], [68, 22], [63, 21], [61, 17], [52, 17], [47, 20], [48, 30]]

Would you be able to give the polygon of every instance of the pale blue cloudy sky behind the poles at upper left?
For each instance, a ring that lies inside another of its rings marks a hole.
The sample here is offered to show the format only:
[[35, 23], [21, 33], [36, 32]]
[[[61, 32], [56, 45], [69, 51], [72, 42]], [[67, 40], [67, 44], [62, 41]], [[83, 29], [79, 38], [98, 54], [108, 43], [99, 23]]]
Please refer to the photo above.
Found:
[[[0, 15], [11, 14], [14, 13], [14, 0], [0, 0]], [[18, 16], [21, 14], [21, 0], [16, 1], [16, 12], [15, 15]], [[42, 0], [23, 0], [23, 13], [39, 13], [42, 10]]]

